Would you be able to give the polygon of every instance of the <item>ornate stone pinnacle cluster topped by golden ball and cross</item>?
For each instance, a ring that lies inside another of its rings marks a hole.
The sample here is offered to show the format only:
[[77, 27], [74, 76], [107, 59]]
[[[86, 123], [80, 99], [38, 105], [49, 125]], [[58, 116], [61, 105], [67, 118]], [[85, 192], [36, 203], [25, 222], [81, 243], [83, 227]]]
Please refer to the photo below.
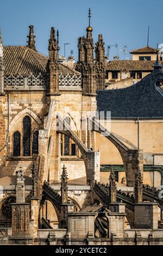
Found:
[[[102, 35], [99, 35], [96, 49], [92, 38], [92, 27], [90, 26], [91, 10], [89, 8], [89, 26], [86, 28], [86, 38], [78, 39], [79, 60], [77, 70], [83, 77], [83, 95], [95, 96], [96, 90], [104, 89], [105, 66], [104, 66], [104, 42]], [[96, 52], [96, 62], [93, 51]]]

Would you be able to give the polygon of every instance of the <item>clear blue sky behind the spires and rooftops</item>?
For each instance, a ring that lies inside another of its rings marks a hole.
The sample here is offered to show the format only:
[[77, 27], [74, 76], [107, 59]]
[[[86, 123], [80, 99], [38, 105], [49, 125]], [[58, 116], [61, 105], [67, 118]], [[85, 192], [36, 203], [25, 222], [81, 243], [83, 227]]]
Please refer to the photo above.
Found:
[[[5, 45], [26, 45], [28, 26], [34, 25], [37, 51], [48, 54], [48, 39], [52, 26], [59, 29], [60, 54], [66, 56], [70, 50], [78, 58], [78, 37], [86, 35], [87, 12], [91, 8], [93, 39], [103, 34], [105, 47], [118, 44], [118, 54], [127, 45], [128, 52], [147, 45], [163, 43], [162, 7], [163, 1], [153, 0], [1, 0], [0, 26]], [[110, 58], [116, 54], [110, 50]], [[129, 54], [127, 55], [129, 57]]]

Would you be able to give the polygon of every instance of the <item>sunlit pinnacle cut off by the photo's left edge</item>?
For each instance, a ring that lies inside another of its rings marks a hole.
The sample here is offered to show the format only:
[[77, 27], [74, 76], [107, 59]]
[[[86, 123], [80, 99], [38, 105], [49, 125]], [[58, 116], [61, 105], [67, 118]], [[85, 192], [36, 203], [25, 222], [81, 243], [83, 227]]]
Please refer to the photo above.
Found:
[[3, 41], [0, 28], [0, 96], [4, 95], [4, 61], [3, 61]]

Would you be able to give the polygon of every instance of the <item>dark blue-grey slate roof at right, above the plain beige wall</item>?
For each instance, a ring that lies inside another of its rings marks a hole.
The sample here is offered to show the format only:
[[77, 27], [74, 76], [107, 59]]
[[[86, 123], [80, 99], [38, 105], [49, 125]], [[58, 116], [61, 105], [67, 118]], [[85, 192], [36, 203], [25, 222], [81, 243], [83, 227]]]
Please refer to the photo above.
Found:
[[163, 90], [158, 86], [163, 81], [160, 66], [133, 86], [97, 91], [98, 111], [111, 111], [111, 118], [162, 118]]

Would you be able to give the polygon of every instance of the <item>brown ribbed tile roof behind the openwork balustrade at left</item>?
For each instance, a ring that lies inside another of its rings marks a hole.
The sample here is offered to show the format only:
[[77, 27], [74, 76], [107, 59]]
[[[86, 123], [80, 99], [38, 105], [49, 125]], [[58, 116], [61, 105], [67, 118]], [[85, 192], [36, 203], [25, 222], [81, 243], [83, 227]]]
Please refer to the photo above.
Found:
[[[46, 74], [47, 63], [48, 57], [27, 46], [4, 46], [5, 76]], [[80, 76], [79, 72], [61, 63], [59, 63], [59, 69], [62, 75]]]

